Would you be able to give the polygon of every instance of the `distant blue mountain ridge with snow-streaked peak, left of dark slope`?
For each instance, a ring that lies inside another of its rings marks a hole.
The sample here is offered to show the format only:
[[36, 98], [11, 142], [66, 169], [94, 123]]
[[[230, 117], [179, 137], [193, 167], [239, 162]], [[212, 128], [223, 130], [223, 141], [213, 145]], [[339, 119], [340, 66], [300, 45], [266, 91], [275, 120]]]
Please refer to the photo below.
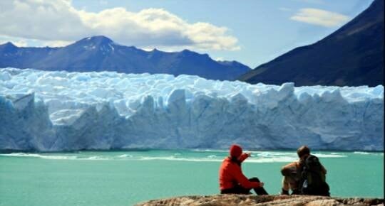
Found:
[[0, 67], [66, 70], [69, 72], [116, 71], [198, 75], [211, 80], [235, 80], [250, 67], [236, 61], [216, 61], [207, 54], [145, 51], [114, 43], [105, 36], [83, 38], [61, 48], [20, 48], [0, 45]]

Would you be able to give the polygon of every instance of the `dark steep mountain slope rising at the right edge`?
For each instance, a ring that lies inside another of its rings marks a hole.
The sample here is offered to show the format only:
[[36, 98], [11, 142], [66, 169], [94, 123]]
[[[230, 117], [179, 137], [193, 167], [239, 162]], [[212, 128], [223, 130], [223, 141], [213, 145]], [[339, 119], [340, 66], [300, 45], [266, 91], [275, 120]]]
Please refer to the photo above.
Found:
[[384, 0], [312, 45], [294, 48], [239, 80], [280, 85], [384, 85]]

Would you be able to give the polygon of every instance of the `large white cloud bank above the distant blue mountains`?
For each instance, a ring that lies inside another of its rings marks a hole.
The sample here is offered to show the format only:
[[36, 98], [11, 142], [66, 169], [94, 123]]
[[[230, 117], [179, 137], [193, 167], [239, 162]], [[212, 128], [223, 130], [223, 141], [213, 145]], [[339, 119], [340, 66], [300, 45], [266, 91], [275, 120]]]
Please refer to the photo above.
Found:
[[0, 35], [48, 43], [104, 35], [138, 47], [240, 49], [228, 28], [188, 23], [164, 9], [130, 12], [117, 7], [93, 13], [75, 9], [69, 0], [0, 1], [0, 25]]

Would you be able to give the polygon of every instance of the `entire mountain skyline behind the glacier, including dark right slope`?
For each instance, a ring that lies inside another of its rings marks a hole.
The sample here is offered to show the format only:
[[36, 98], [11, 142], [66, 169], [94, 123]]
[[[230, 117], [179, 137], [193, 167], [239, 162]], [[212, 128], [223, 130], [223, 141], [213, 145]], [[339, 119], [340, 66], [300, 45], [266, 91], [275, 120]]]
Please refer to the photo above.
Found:
[[241, 80], [281, 85], [384, 85], [384, 0], [329, 36], [294, 48], [254, 70], [236, 61], [216, 61], [190, 50], [146, 51], [114, 43], [105, 36], [83, 38], [61, 48], [0, 45], [0, 67], [77, 72], [198, 75], [210, 80]]

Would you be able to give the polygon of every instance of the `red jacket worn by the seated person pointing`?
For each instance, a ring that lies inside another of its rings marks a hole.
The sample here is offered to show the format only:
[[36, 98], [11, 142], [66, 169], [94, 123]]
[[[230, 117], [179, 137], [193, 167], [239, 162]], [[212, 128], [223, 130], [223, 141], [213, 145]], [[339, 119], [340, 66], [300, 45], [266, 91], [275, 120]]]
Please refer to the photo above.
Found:
[[[238, 161], [242, 163], [249, 156], [242, 153]], [[219, 170], [220, 190], [234, 188], [236, 184], [240, 184], [243, 188], [260, 188], [260, 183], [250, 182], [242, 173], [239, 164], [231, 161], [230, 157], [225, 158]]]

